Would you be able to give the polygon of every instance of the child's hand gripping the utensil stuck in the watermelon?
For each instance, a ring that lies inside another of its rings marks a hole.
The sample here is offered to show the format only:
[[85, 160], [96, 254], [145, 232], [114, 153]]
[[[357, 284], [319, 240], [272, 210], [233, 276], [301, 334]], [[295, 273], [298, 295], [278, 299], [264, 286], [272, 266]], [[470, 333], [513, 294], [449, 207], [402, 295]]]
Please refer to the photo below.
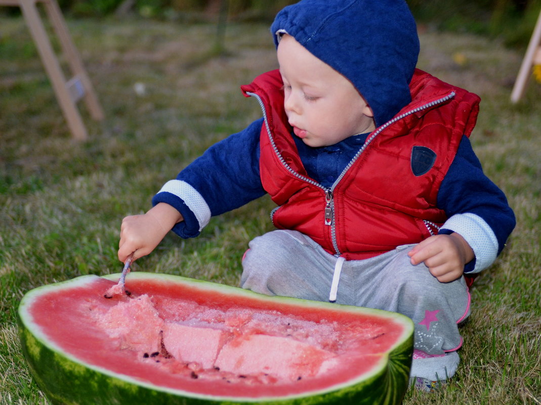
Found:
[[179, 211], [165, 203], [155, 205], [146, 214], [127, 216], [120, 228], [118, 260], [126, 261], [134, 250], [134, 260], [148, 255], [182, 220]]

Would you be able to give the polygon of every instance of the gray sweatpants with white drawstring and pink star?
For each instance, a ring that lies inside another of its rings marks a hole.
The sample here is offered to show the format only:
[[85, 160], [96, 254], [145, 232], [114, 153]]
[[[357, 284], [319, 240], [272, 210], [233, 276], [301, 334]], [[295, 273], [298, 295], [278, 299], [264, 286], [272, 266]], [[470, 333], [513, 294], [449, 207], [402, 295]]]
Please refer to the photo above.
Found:
[[250, 242], [241, 287], [404, 314], [415, 324], [411, 376], [448, 379], [458, 366], [457, 323], [469, 315], [470, 294], [464, 277], [440, 283], [423, 263], [413, 266], [411, 247], [344, 261], [297, 231], [276, 230]]

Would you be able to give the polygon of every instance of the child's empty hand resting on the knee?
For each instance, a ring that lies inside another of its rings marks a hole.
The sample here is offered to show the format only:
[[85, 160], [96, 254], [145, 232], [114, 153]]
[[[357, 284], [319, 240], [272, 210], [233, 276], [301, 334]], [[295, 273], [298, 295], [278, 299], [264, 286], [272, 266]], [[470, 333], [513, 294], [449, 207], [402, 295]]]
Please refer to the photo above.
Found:
[[411, 263], [425, 262], [430, 273], [442, 283], [457, 280], [464, 273], [464, 265], [474, 254], [466, 240], [457, 233], [435, 235], [415, 245], [408, 256]]

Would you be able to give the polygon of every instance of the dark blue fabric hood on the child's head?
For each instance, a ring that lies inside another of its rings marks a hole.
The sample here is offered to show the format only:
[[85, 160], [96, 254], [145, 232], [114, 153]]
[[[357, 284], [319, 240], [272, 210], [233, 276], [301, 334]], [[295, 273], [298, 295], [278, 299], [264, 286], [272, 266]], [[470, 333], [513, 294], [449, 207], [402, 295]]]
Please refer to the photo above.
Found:
[[404, 0], [302, 0], [281, 10], [274, 43], [287, 32], [353, 83], [377, 127], [411, 101], [417, 26]]

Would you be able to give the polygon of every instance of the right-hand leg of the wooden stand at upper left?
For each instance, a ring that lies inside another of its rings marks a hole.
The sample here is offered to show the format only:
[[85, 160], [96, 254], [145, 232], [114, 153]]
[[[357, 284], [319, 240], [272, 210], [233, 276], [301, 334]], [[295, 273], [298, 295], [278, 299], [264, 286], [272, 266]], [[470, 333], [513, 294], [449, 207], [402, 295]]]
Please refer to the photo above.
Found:
[[72, 80], [80, 81], [84, 90], [84, 102], [88, 107], [90, 115], [96, 121], [102, 121], [104, 118], [103, 110], [98, 102], [94, 88], [88, 78], [87, 72], [83, 67], [81, 56], [78, 54], [74, 43], [71, 41], [68, 28], [62, 17], [62, 11], [54, 0], [42, 0], [45, 4], [45, 11], [52, 22], [56, 35], [60, 39], [62, 52], [68, 59], [71, 71], [74, 74]]

